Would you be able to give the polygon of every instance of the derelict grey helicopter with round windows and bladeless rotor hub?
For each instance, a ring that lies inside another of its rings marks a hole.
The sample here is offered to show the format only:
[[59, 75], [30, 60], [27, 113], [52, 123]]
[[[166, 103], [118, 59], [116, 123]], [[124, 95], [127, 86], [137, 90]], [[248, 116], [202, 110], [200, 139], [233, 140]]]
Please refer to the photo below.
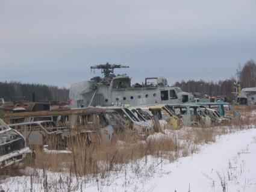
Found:
[[96, 76], [90, 81], [72, 84], [69, 91], [70, 107], [183, 104], [194, 99], [192, 94], [182, 91], [180, 87], [167, 85], [163, 77], [146, 78], [145, 83], [131, 85], [129, 76], [114, 75], [114, 69], [123, 67], [127, 66], [108, 63], [92, 66], [91, 69], [101, 69], [104, 78]]

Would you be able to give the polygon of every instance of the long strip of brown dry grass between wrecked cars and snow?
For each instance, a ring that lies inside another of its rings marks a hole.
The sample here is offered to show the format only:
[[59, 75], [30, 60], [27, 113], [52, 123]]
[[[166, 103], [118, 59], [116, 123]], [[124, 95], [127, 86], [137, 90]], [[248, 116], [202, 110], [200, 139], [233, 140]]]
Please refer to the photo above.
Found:
[[33, 167], [52, 172], [71, 171], [78, 176], [104, 176], [105, 173], [122, 170], [126, 164], [149, 155], [175, 161], [180, 156], [197, 152], [201, 144], [213, 143], [218, 135], [228, 134], [237, 128], [183, 128], [180, 131], [168, 131], [166, 135], [160, 133], [159, 137], [144, 141], [126, 137], [125, 141], [109, 144], [87, 145], [84, 142], [70, 141], [70, 154], [46, 154], [37, 149]]

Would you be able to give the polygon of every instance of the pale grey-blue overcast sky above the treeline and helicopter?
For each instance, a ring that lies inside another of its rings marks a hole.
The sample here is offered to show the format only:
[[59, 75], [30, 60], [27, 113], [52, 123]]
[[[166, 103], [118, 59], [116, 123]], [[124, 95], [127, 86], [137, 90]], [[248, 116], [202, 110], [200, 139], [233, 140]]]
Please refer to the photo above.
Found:
[[133, 82], [217, 81], [256, 60], [256, 0], [0, 0], [0, 81], [69, 87], [107, 61]]

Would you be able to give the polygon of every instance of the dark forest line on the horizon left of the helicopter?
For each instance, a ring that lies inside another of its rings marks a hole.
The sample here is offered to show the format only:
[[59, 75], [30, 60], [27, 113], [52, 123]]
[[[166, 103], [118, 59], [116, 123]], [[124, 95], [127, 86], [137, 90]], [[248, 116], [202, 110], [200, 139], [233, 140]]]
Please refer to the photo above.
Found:
[[5, 101], [32, 101], [33, 91], [36, 94], [36, 101], [66, 102], [69, 98], [67, 88], [20, 82], [0, 82], [0, 98], [4, 98]]

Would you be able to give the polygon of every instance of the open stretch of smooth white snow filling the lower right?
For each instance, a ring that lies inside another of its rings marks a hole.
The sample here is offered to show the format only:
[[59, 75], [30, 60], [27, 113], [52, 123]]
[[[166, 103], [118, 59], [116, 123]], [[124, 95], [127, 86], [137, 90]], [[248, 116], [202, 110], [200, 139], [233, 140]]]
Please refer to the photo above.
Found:
[[[216, 143], [202, 147], [198, 154], [180, 158], [175, 163], [164, 163], [151, 177], [136, 181], [128, 173], [126, 179], [120, 176], [99, 190], [255, 192], [255, 163], [256, 129], [248, 129], [223, 135]], [[91, 186], [87, 191], [98, 191], [98, 187]]]

